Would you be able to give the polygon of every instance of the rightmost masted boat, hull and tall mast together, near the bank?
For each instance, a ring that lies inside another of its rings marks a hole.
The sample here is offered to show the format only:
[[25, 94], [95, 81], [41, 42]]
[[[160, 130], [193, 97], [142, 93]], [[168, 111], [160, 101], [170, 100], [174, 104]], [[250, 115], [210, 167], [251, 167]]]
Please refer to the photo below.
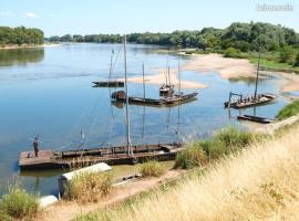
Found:
[[[225, 102], [225, 108], [246, 108], [251, 106], [265, 105], [272, 101], [275, 101], [278, 96], [270, 93], [257, 93], [258, 87], [258, 78], [259, 78], [259, 67], [260, 67], [260, 50], [258, 54], [258, 66], [257, 66], [257, 75], [256, 75], [256, 85], [255, 85], [255, 94], [251, 96], [244, 96], [241, 94], [229, 93], [228, 102]], [[238, 96], [237, 99], [231, 101], [233, 96]]]

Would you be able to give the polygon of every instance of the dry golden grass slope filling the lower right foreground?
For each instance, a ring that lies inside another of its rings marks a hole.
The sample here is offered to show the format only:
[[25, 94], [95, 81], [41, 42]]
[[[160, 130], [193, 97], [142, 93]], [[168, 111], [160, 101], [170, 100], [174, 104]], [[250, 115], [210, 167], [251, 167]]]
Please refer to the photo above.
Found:
[[251, 145], [204, 176], [94, 220], [299, 220], [298, 133]]

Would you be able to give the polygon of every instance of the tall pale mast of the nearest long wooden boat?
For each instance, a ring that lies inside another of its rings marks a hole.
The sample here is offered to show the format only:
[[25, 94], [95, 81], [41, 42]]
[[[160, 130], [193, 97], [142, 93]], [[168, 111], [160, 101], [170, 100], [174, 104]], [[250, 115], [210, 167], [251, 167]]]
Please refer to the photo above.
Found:
[[126, 35], [124, 35], [124, 72], [125, 72], [125, 123], [126, 123], [126, 147], [127, 156], [133, 155], [130, 138], [130, 115], [128, 115], [128, 92], [127, 92], [127, 76], [126, 76]]

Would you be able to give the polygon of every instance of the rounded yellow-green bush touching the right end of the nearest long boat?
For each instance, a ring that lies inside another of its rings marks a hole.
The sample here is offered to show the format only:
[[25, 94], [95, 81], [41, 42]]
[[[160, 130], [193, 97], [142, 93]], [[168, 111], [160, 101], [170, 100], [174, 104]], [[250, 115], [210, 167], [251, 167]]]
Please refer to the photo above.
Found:
[[206, 154], [198, 144], [193, 144], [177, 154], [175, 168], [192, 169], [207, 162]]

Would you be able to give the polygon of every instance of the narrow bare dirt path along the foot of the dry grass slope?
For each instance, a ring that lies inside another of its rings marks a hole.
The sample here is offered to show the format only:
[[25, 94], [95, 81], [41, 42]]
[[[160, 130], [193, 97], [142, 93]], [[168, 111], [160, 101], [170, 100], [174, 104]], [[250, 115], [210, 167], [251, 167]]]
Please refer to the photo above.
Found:
[[174, 180], [182, 176], [184, 170], [169, 170], [159, 178], [145, 178], [116, 187], [112, 192], [97, 203], [79, 204], [76, 202], [60, 201], [54, 206], [45, 208], [43, 212], [38, 214], [35, 221], [69, 221], [75, 217], [96, 211], [107, 206], [120, 203], [128, 197], [136, 196], [143, 191], [158, 187], [169, 180]]

